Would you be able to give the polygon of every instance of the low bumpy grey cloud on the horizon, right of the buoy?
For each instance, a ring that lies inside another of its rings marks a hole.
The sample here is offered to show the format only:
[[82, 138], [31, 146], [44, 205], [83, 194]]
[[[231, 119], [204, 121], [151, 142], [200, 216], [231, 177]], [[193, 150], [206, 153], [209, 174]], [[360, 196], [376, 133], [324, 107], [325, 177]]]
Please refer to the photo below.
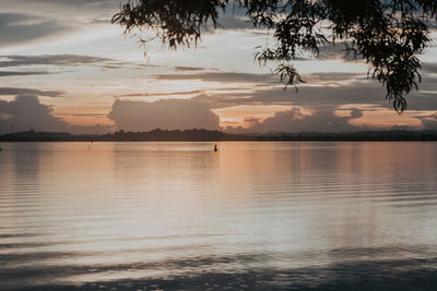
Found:
[[276, 112], [273, 117], [263, 122], [253, 121], [253, 125], [247, 129], [248, 132], [351, 132], [358, 131], [357, 128], [349, 124], [351, 119], [363, 116], [362, 110], [352, 109], [347, 117], [335, 116], [333, 109], [323, 109], [304, 114], [299, 108]]

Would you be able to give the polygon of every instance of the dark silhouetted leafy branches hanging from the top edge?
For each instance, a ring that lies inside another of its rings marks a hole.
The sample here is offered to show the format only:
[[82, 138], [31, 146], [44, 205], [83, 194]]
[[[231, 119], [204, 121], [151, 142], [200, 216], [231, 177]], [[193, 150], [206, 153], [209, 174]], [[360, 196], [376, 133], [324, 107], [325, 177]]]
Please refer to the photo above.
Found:
[[[293, 61], [304, 51], [346, 43], [345, 53], [363, 58], [368, 75], [387, 88], [386, 98], [400, 113], [405, 95], [421, 82], [420, 54], [436, 23], [436, 0], [235, 0], [253, 27], [272, 32], [274, 44], [256, 54], [261, 64], [275, 62], [285, 85], [303, 82]], [[229, 0], [133, 0], [113, 23], [129, 33], [152, 29], [169, 48], [197, 45], [202, 32], [218, 26], [218, 12]], [[147, 41], [149, 39], [142, 39]]]

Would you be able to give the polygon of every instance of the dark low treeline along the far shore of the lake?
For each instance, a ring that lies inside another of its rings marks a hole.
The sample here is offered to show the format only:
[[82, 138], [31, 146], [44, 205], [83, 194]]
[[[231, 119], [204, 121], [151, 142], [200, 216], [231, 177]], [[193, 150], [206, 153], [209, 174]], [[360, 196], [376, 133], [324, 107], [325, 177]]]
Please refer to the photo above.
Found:
[[209, 130], [153, 130], [150, 132], [125, 132], [102, 135], [70, 134], [66, 132], [16, 132], [0, 135], [0, 142], [225, 142], [225, 141], [332, 141], [332, 142], [402, 142], [437, 141], [437, 131], [365, 131], [353, 133], [267, 133], [229, 134]]

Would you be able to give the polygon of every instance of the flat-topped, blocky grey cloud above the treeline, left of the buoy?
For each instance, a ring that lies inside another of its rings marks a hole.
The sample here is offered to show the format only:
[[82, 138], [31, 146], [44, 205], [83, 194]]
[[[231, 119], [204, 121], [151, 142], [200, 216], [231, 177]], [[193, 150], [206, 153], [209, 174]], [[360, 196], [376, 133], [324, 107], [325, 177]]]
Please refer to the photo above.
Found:
[[220, 129], [220, 119], [210, 107], [190, 99], [155, 102], [116, 100], [108, 117], [117, 129], [126, 131]]

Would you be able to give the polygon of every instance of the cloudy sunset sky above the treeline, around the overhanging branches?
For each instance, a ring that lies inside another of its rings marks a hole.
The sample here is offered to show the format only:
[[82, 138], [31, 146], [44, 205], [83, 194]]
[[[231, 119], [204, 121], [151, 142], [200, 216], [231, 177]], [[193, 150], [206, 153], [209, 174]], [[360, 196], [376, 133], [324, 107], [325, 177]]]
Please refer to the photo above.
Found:
[[296, 61], [306, 83], [284, 90], [274, 64], [253, 62], [271, 38], [240, 11], [222, 15], [222, 28], [196, 49], [170, 51], [110, 24], [122, 2], [1, 0], [0, 134], [437, 130], [435, 41], [420, 56], [420, 90], [399, 116], [367, 64], [345, 58], [341, 45]]

